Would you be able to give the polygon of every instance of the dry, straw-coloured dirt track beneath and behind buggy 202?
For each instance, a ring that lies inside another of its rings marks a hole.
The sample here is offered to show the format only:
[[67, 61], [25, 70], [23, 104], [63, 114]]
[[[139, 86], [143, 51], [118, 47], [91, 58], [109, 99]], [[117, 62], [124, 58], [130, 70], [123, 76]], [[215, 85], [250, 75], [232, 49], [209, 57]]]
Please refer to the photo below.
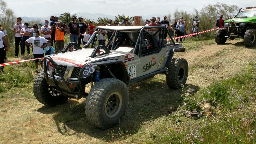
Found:
[[[215, 80], [225, 79], [255, 61], [256, 47], [247, 48], [241, 40], [234, 40], [224, 45], [198, 46], [176, 56], [188, 61], [187, 85], [198, 91], [213, 82], [214, 74]], [[85, 99], [46, 107], [33, 97], [32, 84], [30, 88], [11, 89], [0, 95], [0, 143], [112, 143], [113, 133], [128, 136], [113, 143], [130, 143], [152, 121], [170, 114], [182, 103], [181, 90], [170, 90], [164, 75], [128, 88], [126, 115], [119, 126], [108, 130], [95, 128], [86, 120]]]

